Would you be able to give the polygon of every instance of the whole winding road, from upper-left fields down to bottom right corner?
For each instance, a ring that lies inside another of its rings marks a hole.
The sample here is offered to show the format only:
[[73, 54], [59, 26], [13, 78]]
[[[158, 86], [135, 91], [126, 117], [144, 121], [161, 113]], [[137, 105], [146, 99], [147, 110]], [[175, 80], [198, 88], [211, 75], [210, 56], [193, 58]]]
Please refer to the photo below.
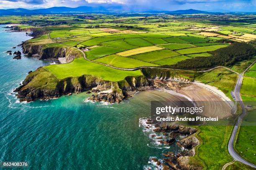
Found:
[[[112, 68], [115, 68], [115, 69], [119, 69], [119, 70], [128, 70], [128, 71], [133, 71], [133, 70], [139, 70], [141, 68], [160, 68], [160, 69], [166, 69], [166, 70], [184, 70], [184, 69], [171, 69], [171, 68], [163, 68], [163, 67], [137, 67], [137, 68], [120, 68], [120, 67], [114, 67], [112, 65], [108, 65], [108, 64], [104, 64], [104, 63], [100, 63], [100, 62], [96, 62], [96, 61], [93, 61], [93, 60], [89, 60], [84, 51], [80, 50], [79, 48], [76, 48], [76, 47], [72, 47], [70, 45], [66, 45], [62, 42], [58, 42], [56, 40], [53, 40], [51, 39], [50, 37], [50, 33], [48, 34], [48, 38], [56, 43], [60, 43], [62, 45], [65, 45], [65, 46], [68, 46], [68, 47], [71, 47], [71, 48], [74, 48], [76, 50], [79, 50], [80, 52], [82, 52], [83, 54], [83, 57], [84, 57], [84, 60], [87, 60], [87, 61], [90, 61], [90, 62], [94, 62], [94, 63], [97, 63], [97, 64], [101, 64], [101, 65], [105, 65], [105, 66], [108, 66], [108, 67], [112, 67]], [[228, 143], [228, 152], [229, 154], [231, 155], [231, 157], [236, 160], [236, 161], [239, 161], [241, 163], [244, 163], [248, 166], [251, 166], [252, 168], [256, 168], [256, 165], [252, 164], [252, 163], [249, 163], [247, 160], [243, 159], [240, 155], [238, 155], [238, 153], [236, 153], [234, 147], [233, 147], [233, 144], [234, 144], [234, 141], [235, 141], [235, 138], [236, 138], [236, 134], [237, 134], [237, 131], [238, 131], [238, 127], [241, 123], [241, 120], [243, 120], [243, 117], [246, 115], [246, 109], [245, 109], [245, 105], [243, 104], [243, 100], [241, 98], [241, 95], [240, 95], [240, 89], [241, 89], [241, 85], [242, 85], [242, 82], [243, 82], [243, 74], [255, 63], [256, 61], [254, 61], [249, 67], [246, 68], [246, 70], [244, 70], [242, 73], [238, 73], [234, 70], [231, 70], [230, 68], [228, 67], [223, 67], [223, 66], [217, 66], [217, 67], [213, 67], [209, 70], [200, 70], [198, 72], [207, 72], [207, 71], [210, 71], [210, 70], [214, 70], [215, 68], [225, 68], [227, 70], [230, 70], [236, 74], [238, 74], [238, 80], [236, 82], [236, 86], [235, 86], [235, 89], [234, 91], [231, 91], [231, 95], [233, 97], [233, 99], [235, 101], [238, 101], [242, 107], [242, 114], [238, 117], [238, 120], [233, 128], [233, 131], [232, 131], [232, 134], [230, 136], [230, 140], [229, 140], [229, 143]], [[193, 70], [187, 70], [187, 71], [193, 71]], [[225, 170], [226, 167], [228, 167], [228, 165], [231, 165], [232, 163], [234, 163], [234, 160], [230, 163], [227, 163], [223, 166], [223, 170]]]

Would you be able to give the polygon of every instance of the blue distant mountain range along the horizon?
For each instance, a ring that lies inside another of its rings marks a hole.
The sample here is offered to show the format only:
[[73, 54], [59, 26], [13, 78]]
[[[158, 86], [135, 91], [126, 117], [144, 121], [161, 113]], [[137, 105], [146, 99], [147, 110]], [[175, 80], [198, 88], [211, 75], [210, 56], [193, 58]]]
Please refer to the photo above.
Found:
[[[16, 8], [16, 9], [7, 9], [0, 10], [0, 15], [36, 15], [36, 14], [61, 14], [61, 13], [124, 13], [122, 11], [121, 6], [113, 6], [113, 7], [90, 7], [90, 6], [81, 6], [81, 7], [51, 7], [46, 9], [36, 9], [36, 10], [28, 10], [24, 8]], [[141, 11], [128, 11], [128, 12], [140, 12]], [[176, 11], [144, 11], [145, 13], [168, 13], [168, 14], [214, 14], [214, 12], [206, 12], [201, 10], [176, 10]], [[215, 13], [218, 14], [218, 13]]]

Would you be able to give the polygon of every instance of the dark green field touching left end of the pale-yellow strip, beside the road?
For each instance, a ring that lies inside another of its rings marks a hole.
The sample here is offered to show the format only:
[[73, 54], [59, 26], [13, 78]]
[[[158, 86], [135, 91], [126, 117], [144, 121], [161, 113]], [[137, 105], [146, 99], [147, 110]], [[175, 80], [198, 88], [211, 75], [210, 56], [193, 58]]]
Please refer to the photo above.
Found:
[[111, 55], [115, 54], [117, 52], [124, 51], [123, 49], [120, 48], [115, 48], [115, 47], [105, 47], [105, 46], [100, 46], [100, 47], [95, 47], [92, 48], [92, 50], [85, 52], [86, 57], [90, 60], [94, 60], [96, 58], [100, 58], [106, 55]]

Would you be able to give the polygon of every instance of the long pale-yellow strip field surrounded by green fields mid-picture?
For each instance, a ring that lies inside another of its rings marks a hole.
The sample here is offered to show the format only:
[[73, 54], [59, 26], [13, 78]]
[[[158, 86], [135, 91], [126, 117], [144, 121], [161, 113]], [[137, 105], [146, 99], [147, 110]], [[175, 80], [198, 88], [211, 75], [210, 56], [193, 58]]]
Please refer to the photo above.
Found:
[[141, 54], [141, 53], [145, 53], [145, 52], [151, 52], [151, 51], [156, 51], [156, 50], [162, 50], [164, 48], [162, 47], [157, 47], [157, 46], [148, 46], [148, 47], [139, 47], [139, 48], [135, 48], [132, 50], [127, 50], [124, 52], [119, 52], [117, 53], [117, 55], [123, 56], [123, 57], [128, 57], [131, 55], [136, 55], [136, 54]]

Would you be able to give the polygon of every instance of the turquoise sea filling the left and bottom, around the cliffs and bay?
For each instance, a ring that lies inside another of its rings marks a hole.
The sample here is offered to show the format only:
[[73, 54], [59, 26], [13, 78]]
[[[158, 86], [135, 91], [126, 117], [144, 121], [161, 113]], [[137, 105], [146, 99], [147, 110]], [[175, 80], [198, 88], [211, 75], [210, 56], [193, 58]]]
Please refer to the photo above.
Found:
[[150, 116], [151, 100], [175, 99], [164, 92], [140, 92], [113, 105], [88, 102], [85, 93], [18, 102], [13, 88], [28, 71], [51, 61], [13, 60], [3, 52], [21, 50], [11, 47], [29, 37], [4, 30], [0, 28], [0, 160], [28, 161], [31, 170], [136, 170], [166, 151], [155, 147], [139, 127], [139, 119]]

